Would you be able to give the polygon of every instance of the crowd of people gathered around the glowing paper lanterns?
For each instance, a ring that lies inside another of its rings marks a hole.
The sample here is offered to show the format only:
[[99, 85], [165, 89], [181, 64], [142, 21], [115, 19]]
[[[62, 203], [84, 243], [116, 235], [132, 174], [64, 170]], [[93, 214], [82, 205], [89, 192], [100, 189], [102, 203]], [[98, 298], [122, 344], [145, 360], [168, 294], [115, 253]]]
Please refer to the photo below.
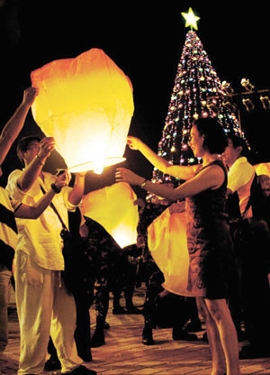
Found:
[[[22, 104], [4, 126], [0, 165], [37, 95], [36, 88], [27, 88]], [[113, 314], [143, 314], [146, 345], [155, 343], [153, 328], [164, 325], [173, 328], [174, 340], [196, 340], [189, 332], [202, 328], [202, 316], [211, 348], [211, 375], [238, 375], [239, 356], [270, 356], [268, 200], [247, 160], [247, 144], [236, 134], [226, 135], [210, 117], [194, 121], [191, 129], [190, 146], [202, 164], [172, 165], [139, 139], [128, 137], [127, 142], [154, 167], [184, 183], [176, 188], [154, 184], [129, 169], [117, 169], [116, 181], [153, 194], [151, 202], [137, 200], [138, 241], [124, 249], [101, 224], [81, 214], [85, 173], [70, 180], [67, 171], [54, 176], [43, 170], [54, 139], [30, 136], [18, 142], [23, 169], [15, 169], [6, 188], [0, 189], [0, 352], [8, 343], [7, 306], [14, 274], [21, 334], [18, 374], [39, 374], [44, 369], [95, 374], [83, 363], [92, 361], [91, 347], [105, 343], [112, 292]], [[187, 288], [193, 297], [162, 287], [164, 276], [148, 250], [148, 225], [174, 202], [181, 209], [185, 202]], [[146, 284], [142, 311], [132, 302], [141, 269], [139, 280]], [[121, 292], [125, 307], [120, 305]], [[93, 304], [96, 326], [91, 338]], [[169, 323], [161, 322], [160, 313], [166, 315], [168, 306], [175, 306], [174, 316]], [[249, 344], [239, 353], [241, 334]]]

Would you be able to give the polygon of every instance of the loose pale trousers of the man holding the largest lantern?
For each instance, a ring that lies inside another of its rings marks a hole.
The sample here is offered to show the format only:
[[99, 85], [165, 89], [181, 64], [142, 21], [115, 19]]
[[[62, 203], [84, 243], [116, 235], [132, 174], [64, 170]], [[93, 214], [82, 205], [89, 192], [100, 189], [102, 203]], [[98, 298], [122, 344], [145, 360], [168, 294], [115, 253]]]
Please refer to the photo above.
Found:
[[61, 283], [60, 272], [42, 269], [25, 252], [17, 251], [15, 296], [21, 331], [18, 374], [43, 371], [49, 335], [58, 352], [62, 372], [81, 365], [74, 340], [75, 301]]

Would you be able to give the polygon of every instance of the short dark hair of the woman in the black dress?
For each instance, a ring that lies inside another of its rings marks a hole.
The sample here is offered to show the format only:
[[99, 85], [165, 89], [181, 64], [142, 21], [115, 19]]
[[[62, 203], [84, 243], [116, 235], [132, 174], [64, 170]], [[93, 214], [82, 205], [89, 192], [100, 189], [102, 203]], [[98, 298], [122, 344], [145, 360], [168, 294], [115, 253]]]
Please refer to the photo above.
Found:
[[220, 123], [213, 117], [201, 117], [193, 121], [198, 132], [204, 135], [203, 147], [210, 153], [219, 153], [225, 151], [228, 141], [225, 132]]

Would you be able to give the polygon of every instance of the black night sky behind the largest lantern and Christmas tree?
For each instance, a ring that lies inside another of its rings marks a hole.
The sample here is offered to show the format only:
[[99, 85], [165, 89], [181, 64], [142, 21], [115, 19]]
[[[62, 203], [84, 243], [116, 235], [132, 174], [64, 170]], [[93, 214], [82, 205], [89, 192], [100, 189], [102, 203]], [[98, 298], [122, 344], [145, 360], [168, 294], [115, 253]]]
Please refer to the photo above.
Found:
[[[241, 5], [238, 5], [241, 3]], [[241, 78], [257, 89], [270, 87], [269, 14], [266, 2], [152, 1], [101, 2], [59, 0], [0, 0], [1, 127], [14, 113], [31, 85], [31, 70], [54, 60], [73, 58], [100, 48], [129, 76], [134, 89], [135, 113], [130, 135], [155, 151], [161, 138], [186, 32], [181, 12], [189, 7], [201, 17], [197, 34], [221, 81], [238, 92]], [[270, 161], [269, 112], [247, 114], [240, 107], [241, 123], [256, 160]], [[20, 136], [40, 133], [28, 115]], [[15, 145], [4, 161], [4, 186], [11, 170], [21, 165]], [[137, 151], [126, 150], [122, 164], [145, 177], [151, 166]], [[54, 151], [47, 170], [61, 167]], [[114, 182], [115, 167], [101, 176], [87, 174], [86, 192]]]

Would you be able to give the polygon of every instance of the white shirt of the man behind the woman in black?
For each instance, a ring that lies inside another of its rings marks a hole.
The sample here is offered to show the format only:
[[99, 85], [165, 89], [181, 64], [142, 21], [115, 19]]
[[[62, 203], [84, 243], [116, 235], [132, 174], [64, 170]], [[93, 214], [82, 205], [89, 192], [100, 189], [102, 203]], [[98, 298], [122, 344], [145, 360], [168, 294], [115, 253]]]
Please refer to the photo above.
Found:
[[[241, 215], [245, 212], [254, 176], [255, 169], [245, 157], [238, 158], [229, 169], [227, 188], [229, 188], [232, 193], [235, 191], [238, 192]], [[247, 209], [247, 213], [244, 215], [244, 218], [248, 217], [252, 217], [251, 207]]]

